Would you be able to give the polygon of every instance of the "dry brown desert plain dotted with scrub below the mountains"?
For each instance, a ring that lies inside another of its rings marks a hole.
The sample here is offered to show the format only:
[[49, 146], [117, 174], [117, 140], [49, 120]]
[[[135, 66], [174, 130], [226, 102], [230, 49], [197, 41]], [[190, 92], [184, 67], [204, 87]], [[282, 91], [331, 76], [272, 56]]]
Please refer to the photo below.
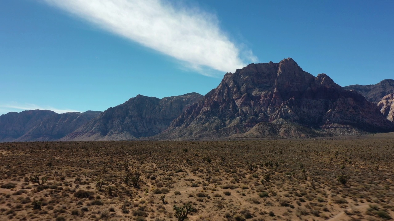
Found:
[[0, 220], [176, 221], [184, 204], [199, 221], [394, 215], [391, 136], [1, 143], [0, 157]]

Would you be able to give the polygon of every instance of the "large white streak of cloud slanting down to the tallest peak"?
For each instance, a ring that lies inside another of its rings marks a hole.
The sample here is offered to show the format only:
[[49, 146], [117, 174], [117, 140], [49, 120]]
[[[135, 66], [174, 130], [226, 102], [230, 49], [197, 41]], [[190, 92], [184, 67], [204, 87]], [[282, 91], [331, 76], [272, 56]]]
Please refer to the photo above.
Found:
[[43, 1], [195, 70], [234, 72], [256, 61], [253, 53], [229, 40], [214, 15], [197, 8], [175, 7], [166, 0]]

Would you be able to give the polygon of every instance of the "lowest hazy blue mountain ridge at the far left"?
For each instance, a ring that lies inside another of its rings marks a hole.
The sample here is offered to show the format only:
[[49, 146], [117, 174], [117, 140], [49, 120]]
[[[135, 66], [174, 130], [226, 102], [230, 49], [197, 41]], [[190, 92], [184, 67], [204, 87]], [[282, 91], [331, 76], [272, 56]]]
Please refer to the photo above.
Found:
[[0, 142], [58, 140], [81, 127], [100, 111], [57, 114], [51, 110], [25, 110], [0, 116]]

